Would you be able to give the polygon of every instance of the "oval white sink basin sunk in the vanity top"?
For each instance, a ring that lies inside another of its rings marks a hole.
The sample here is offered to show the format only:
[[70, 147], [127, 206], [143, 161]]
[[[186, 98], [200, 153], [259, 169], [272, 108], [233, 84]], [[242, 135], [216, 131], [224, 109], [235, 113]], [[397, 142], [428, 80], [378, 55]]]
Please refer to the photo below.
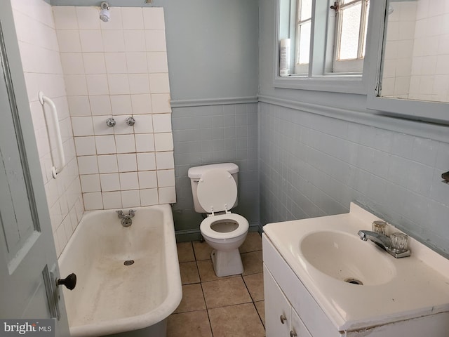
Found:
[[317, 270], [349, 284], [374, 286], [396, 275], [390, 256], [355, 234], [312, 232], [301, 240], [300, 251]]

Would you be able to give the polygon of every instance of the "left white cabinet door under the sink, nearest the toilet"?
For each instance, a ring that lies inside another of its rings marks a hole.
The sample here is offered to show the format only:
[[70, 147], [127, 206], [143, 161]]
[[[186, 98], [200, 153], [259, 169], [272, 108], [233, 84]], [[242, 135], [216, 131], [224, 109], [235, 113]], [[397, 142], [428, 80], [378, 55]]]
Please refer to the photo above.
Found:
[[290, 336], [291, 306], [264, 265], [265, 333], [267, 337]]

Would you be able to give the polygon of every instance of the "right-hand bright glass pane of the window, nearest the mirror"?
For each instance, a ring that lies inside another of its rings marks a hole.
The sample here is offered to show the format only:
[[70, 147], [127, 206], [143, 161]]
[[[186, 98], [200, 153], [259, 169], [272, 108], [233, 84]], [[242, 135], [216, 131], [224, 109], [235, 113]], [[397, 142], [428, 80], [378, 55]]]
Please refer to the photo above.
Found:
[[358, 32], [361, 20], [361, 4], [340, 10], [342, 15], [342, 33], [340, 37], [339, 60], [357, 58]]

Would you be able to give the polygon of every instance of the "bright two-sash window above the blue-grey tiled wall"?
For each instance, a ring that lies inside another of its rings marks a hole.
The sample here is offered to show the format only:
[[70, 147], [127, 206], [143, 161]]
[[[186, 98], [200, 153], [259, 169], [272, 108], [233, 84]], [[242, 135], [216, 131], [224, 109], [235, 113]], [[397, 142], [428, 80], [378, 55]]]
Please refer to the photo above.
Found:
[[295, 41], [293, 74], [362, 72], [370, 0], [291, 1], [290, 11], [295, 11], [295, 27], [289, 30]]

